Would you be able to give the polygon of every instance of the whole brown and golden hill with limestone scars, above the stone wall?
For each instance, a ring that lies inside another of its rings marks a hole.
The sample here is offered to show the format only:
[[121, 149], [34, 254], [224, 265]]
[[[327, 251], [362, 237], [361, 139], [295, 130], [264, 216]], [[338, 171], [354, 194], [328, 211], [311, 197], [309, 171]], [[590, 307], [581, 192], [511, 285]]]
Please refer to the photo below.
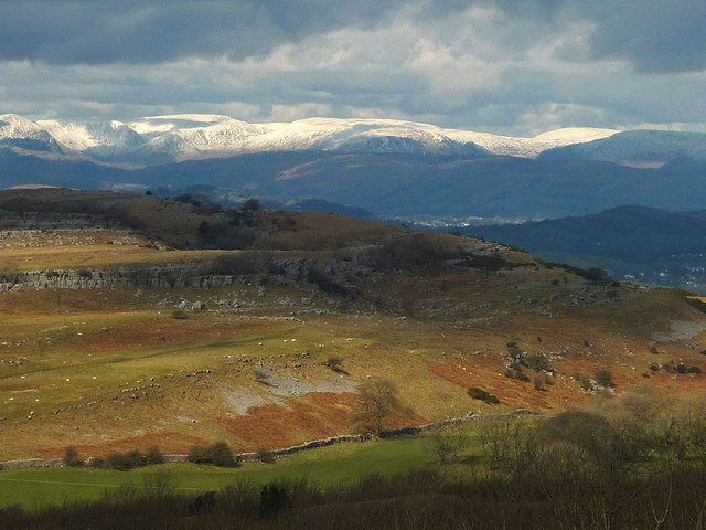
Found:
[[584, 403], [599, 369], [706, 384], [695, 300], [489, 241], [66, 189], [0, 192], [0, 459], [349, 433], [371, 378], [398, 389], [388, 426]]

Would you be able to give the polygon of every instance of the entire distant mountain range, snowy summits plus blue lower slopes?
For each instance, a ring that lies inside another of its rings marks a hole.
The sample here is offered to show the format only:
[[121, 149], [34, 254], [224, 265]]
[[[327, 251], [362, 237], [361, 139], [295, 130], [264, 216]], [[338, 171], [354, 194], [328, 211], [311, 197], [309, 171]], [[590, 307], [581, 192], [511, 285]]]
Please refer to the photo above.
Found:
[[513, 138], [391, 119], [248, 124], [173, 115], [71, 123], [3, 115], [0, 187], [171, 195], [212, 187], [402, 220], [546, 219], [622, 204], [697, 210], [706, 203], [703, 140], [590, 128]]

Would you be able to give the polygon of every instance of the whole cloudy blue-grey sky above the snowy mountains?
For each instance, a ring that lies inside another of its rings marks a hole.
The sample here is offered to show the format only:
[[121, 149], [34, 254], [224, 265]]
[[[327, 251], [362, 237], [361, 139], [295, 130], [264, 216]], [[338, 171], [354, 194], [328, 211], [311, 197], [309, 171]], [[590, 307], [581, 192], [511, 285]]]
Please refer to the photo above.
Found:
[[706, 131], [705, 0], [0, 0], [0, 114]]

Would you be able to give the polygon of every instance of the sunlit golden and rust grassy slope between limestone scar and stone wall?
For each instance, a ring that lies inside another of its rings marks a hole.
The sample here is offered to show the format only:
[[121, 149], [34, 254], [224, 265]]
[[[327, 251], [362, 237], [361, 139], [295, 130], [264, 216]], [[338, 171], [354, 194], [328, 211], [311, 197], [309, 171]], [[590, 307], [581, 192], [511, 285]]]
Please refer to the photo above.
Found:
[[[270, 399], [274, 405], [286, 406], [261, 404], [242, 416], [245, 411], [234, 409], [227, 395], [249, 389], [267, 398], [269, 389], [256, 382], [253, 369], [260, 358], [275, 373], [297, 377], [315, 386], [318, 381], [338, 378], [322, 363], [330, 356], [342, 357], [349, 372], [346, 381], [371, 374], [396, 381], [403, 401], [414, 404], [421, 416], [418, 421], [493, 410], [466, 395], [466, 389], [472, 385], [496, 393], [503, 409], [552, 409], [564, 400], [584, 400], [570, 379], [576, 372], [591, 375], [598, 368], [609, 368], [620, 391], [642, 381], [641, 374], [649, 371], [651, 362], [674, 359], [706, 369], [698, 354], [704, 347], [699, 340], [661, 346], [657, 356], [649, 352], [653, 331], [668, 330], [671, 319], [696, 318], [694, 309], [668, 292], [635, 292], [623, 303], [570, 306], [560, 318], [546, 318], [531, 312], [535, 305], [517, 309], [513, 304], [545, 297], [553, 288], [550, 283], [525, 289], [518, 297], [504, 285], [493, 286], [488, 278], [479, 292], [468, 276], [478, 275], [457, 271], [421, 286], [414, 278], [395, 276], [385, 285], [402, 300], [406, 315], [421, 314], [424, 307], [452, 298], [473, 300], [470, 319], [399, 320], [397, 312], [388, 311], [309, 314], [295, 320], [259, 318], [288, 317], [292, 307], [280, 306], [278, 300], [297, 300], [310, 294], [297, 286], [268, 286], [265, 297], [257, 296], [256, 286], [217, 293], [145, 292], [139, 296], [129, 289], [36, 292], [29, 298], [22, 292], [6, 294], [0, 325], [4, 341], [12, 346], [0, 351], [6, 361], [24, 360], [22, 365], [0, 364], [0, 388], [6, 396], [1, 428], [8, 439], [0, 454], [3, 458], [60, 456], [69, 444], [78, 445], [84, 456], [135, 446], [147, 448], [160, 439], [157, 433], [162, 433], [165, 451], [184, 452], [203, 439], [226, 439], [237, 449], [248, 449], [351, 430], [345, 420], [350, 398], [344, 395], [339, 402], [325, 392]], [[449, 285], [453, 286], [452, 293]], [[257, 305], [223, 314], [195, 312], [188, 320], [174, 320], [171, 310], [182, 297], [237, 298]], [[357, 307], [364, 305], [361, 301]], [[313, 307], [329, 306], [324, 298]], [[515, 314], [507, 314], [513, 307]], [[546, 391], [536, 392], [530, 383], [501, 375], [506, 362], [505, 342], [510, 340], [526, 351], [559, 356], [552, 365], [563, 377]], [[587, 340], [590, 347], [585, 346]], [[696, 348], [688, 347], [694, 343]], [[307, 352], [311, 357], [301, 358]], [[233, 363], [242, 356], [250, 362]], [[191, 375], [201, 370], [214, 373]], [[653, 380], [692, 390], [702, 388], [702, 377], [672, 378], [660, 374]], [[152, 383], [160, 386], [146, 388]], [[137, 386], [143, 390], [122, 392]], [[339, 391], [350, 392], [350, 386]]]

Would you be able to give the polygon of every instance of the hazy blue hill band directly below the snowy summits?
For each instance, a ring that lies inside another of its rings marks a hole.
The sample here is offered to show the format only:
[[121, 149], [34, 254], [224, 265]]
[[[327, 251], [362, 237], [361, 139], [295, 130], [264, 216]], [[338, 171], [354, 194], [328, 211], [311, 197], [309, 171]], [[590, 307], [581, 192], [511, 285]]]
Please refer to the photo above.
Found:
[[621, 204], [706, 206], [706, 163], [694, 160], [642, 169], [596, 160], [286, 151], [128, 171], [0, 148], [0, 187], [23, 183], [138, 191], [210, 186], [246, 197], [317, 198], [378, 216], [546, 219]]

